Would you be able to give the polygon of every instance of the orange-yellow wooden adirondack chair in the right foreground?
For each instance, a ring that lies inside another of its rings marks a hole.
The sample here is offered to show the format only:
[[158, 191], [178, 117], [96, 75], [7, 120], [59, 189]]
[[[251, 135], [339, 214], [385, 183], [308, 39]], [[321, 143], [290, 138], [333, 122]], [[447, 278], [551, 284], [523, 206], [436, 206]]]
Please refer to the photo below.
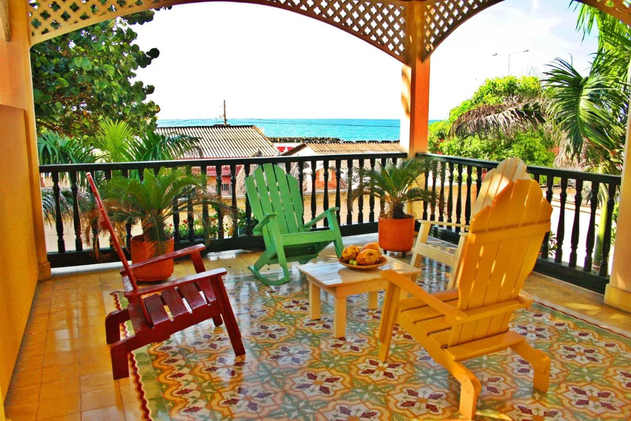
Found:
[[[481, 385], [461, 362], [512, 348], [534, 367], [534, 387], [548, 390], [550, 358], [509, 329], [516, 309], [533, 299], [521, 293], [541, 242], [550, 230], [552, 207], [533, 180], [505, 184], [490, 206], [473, 216], [457, 276], [457, 289], [428, 294], [394, 271], [379, 329], [379, 357], [386, 361], [394, 323], [399, 323], [461, 383], [460, 412], [473, 419]], [[400, 299], [401, 288], [413, 297]]]

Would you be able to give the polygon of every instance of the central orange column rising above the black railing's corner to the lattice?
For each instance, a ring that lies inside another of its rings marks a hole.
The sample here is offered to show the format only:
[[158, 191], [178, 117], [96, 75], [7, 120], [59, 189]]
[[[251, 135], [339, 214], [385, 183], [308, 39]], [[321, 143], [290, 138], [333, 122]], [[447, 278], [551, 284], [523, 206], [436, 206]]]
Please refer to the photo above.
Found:
[[409, 156], [427, 152], [430, 105], [430, 59], [423, 62], [422, 2], [408, 4], [408, 50], [401, 69], [401, 146]]

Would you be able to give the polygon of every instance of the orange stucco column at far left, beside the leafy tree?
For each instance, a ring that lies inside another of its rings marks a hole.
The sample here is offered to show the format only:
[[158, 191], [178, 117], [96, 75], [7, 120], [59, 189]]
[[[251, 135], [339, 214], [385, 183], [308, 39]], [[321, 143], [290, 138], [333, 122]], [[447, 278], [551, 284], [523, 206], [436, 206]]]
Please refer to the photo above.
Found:
[[[46, 242], [44, 235], [44, 216], [42, 215], [42, 195], [40, 192], [39, 163], [37, 158], [37, 134], [35, 131], [35, 106], [33, 104], [33, 83], [30, 62], [30, 40], [28, 27], [28, 2], [24, 0], [0, 0], [0, 8], [3, 4], [6, 15], [4, 22], [8, 21], [9, 30], [0, 31], [0, 105], [8, 105], [24, 110], [26, 119], [26, 138], [23, 145], [27, 146], [28, 169], [30, 171], [30, 186], [28, 195], [31, 206], [28, 209], [13, 209], [8, 215], [0, 214], [2, 225], [11, 226], [15, 218], [20, 218], [24, 212], [32, 216], [33, 234], [37, 252], [39, 279], [50, 278], [50, 263], [46, 256]], [[0, 17], [1, 18], [1, 17]], [[6, 34], [8, 32], [8, 34]], [[6, 40], [6, 35], [10, 40]], [[0, 136], [0, 141], [3, 136]], [[9, 137], [7, 137], [9, 138]], [[11, 157], [6, 157], [11, 158]], [[3, 186], [10, 187], [10, 186]], [[8, 200], [9, 190], [3, 189], [0, 200]], [[15, 192], [15, 191], [14, 191]], [[10, 205], [10, 204], [7, 204]], [[3, 210], [5, 209], [2, 206]], [[8, 206], [6, 209], [11, 209]], [[15, 239], [27, 232], [13, 231], [11, 238]], [[17, 257], [17, 256], [16, 256]]]

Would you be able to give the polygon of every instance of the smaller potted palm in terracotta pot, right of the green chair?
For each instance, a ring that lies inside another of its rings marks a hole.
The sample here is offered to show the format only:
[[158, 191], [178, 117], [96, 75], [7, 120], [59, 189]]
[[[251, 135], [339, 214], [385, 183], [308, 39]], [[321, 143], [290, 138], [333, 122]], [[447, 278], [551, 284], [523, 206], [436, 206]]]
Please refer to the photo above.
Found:
[[384, 251], [406, 252], [414, 244], [413, 215], [406, 205], [417, 201], [433, 201], [434, 194], [425, 190], [425, 172], [430, 170], [426, 158], [401, 160], [375, 169], [360, 169], [351, 191], [351, 202], [360, 196], [372, 195], [386, 203], [386, 212], [379, 216], [379, 247]]

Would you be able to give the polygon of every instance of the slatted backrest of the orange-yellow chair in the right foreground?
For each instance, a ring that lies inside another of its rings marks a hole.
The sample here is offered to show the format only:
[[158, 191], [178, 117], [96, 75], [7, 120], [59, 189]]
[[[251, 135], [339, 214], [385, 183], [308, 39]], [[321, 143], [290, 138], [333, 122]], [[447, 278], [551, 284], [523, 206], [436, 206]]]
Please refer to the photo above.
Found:
[[[490, 206], [473, 216], [457, 273], [459, 309], [517, 299], [550, 230], [551, 213], [538, 182], [520, 179], [508, 182]], [[504, 333], [511, 314], [455, 326], [449, 346]]]

